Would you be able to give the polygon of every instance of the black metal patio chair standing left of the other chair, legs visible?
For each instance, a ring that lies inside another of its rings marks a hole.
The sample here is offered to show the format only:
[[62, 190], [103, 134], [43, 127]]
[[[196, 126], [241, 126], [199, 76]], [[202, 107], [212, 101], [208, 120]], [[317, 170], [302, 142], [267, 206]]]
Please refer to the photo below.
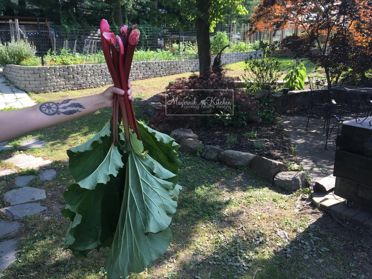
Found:
[[[332, 112], [334, 107], [339, 107], [340, 105], [337, 104], [332, 100], [332, 93], [328, 90], [328, 84], [324, 77], [314, 76], [309, 77], [309, 85], [311, 90], [311, 107], [310, 112], [307, 118], [307, 125], [306, 131], [309, 127], [309, 121], [314, 108], [320, 107], [324, 108], [324, 125], [327, 124], [327, 119]], [[320, 100], [320, 101], [319, 101]]]

